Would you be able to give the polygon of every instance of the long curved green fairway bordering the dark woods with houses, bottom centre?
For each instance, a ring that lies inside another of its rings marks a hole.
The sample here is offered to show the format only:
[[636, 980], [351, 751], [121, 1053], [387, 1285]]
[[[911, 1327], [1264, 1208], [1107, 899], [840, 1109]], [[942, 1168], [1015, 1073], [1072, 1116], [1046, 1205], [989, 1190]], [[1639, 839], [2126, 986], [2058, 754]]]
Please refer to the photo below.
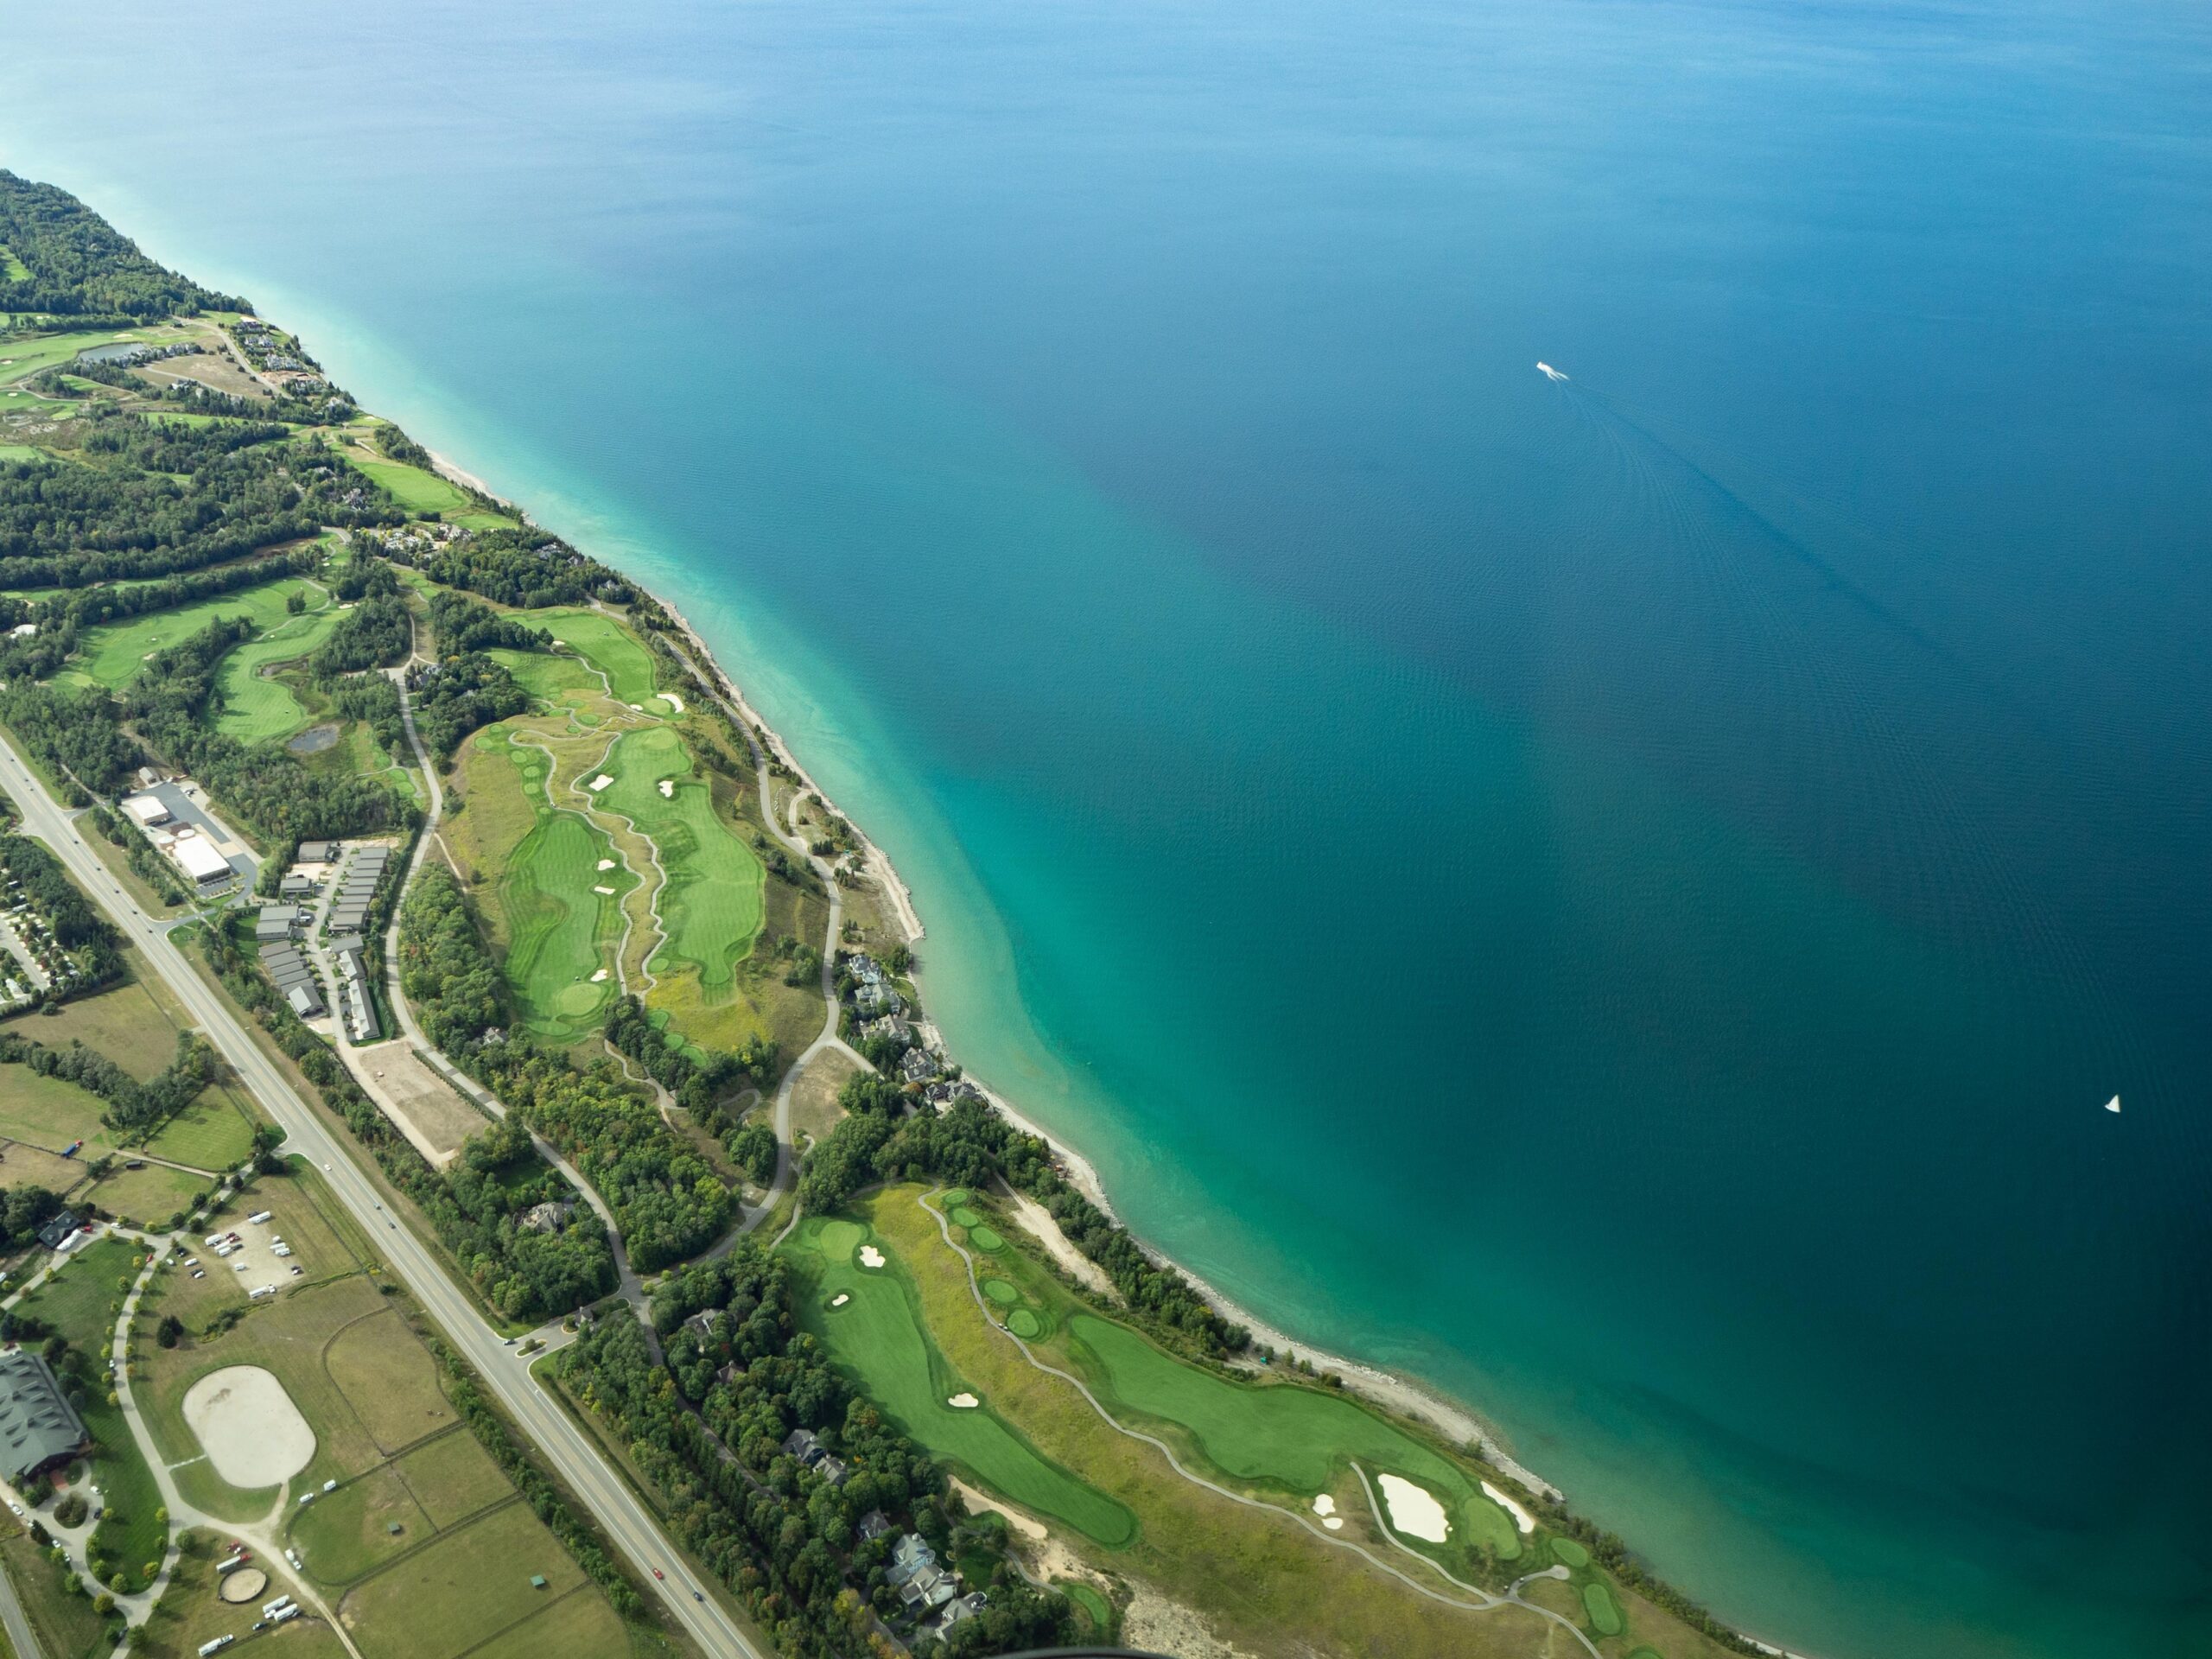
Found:
[[[1121, 1546], [1135, 1537], [1135, 1517], [1066, 1469], [1046, 1462], [984, 1402], [962, 1411], [947, 1400], [962, 1391], [922, 1323], [920, 1301], [898, 1256], [885, 1267], [863, 1267], [854, 1248], [867, 1239], [852, 1221], [810, 1217], [787, 1245], [812, 1296], [799, 1298], [803, 1323], [830, 1358], [858, 1378], [867, 1396], [900, 1429], [933, 1453], [971, 1469], [984, 1484], [1040, 1515], [1053, 1515], [1086, 1537]], [[880, 1248], [880, 1239], [876, 1239]], [[852, 1296], [834, 1316], [832, 1296]]]

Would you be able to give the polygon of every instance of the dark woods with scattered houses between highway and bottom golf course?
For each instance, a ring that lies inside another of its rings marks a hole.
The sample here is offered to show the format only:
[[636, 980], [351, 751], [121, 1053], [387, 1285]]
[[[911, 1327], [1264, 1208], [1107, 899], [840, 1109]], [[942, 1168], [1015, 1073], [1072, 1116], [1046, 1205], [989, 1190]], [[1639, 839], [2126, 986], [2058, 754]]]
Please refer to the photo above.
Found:
[[[703, 1332], [686, 1323], [695, 1316]], [[885, 1582], [896, 1531], [860, 1542], [858, 1524], [880, 1509], [949, 1555], [958, 1522], [945, 1473], [854, 1394], [812, 1336], [794, 1336], [785, 1263], [754, 1241], [670, 1274], [655, 1292], [653, 1325], [670, 1336], [666, 1369], [626, 1310], [586, 1329], [557, 1365], [659, 1489], [670, 1526], [783, 1652], [896, 1652], [878, 1624], [898, 1613]], [[849, 1478], [832, 1484], [785, 1455], [792, 1429], [814, 1431]], [[993, 1535], [971, 1533], [962, 1557], [971, 1544], [993, 1555], [984, 1542]], [[945, 1641], [918, 1637], [911, 1650], [995, 1655], [1075, 1639], [1066, 1599], [1031, 1588], [1011, 1566], [978, 1588], [991, 1597], [980, 1617]]]

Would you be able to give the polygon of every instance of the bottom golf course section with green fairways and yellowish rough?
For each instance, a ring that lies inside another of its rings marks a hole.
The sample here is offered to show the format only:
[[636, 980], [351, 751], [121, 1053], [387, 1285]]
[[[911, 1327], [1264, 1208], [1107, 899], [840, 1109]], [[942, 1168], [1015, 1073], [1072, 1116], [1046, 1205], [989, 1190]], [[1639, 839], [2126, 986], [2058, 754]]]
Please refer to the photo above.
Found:
[[[925, 1208], [922, 1190], [914, 1186], [889, 1188], [849, 1217], [854, 1225], [867, 1228], [867, 1237], [887, 1259], [883, 1270], [847, 1265], [838, 1279], [838, 1285], [847, 1287], [865, 1274], [863, 1287], [878, 1292], [869, 1303], [856, 1296], [845, 1307], [830, 1310], [830, 1298], [816, 1294], [827, 1287], [825, 1270], [818, 1265], [823, 1245], [821, 1234], [807, 1230], [818, 1228], [821, 1219], [801, 1223], [785, 1245], [805, 1283], [801, 1301], [805, 1329], [821, 1336], [834, 1363], [860, 1378], [900, 1427], [925, 1440], [931, 1451], [951, 1458], [969, 1478], [1006, 1502], [1046, 1520], [1062, 1544], [1095, 1566], [1139, 1577], [1172, 1599], [1217, 1610], [1217, 1635], [1256, 1652], [1276, 1650], [1285, 1628], [1307, 1632], [1321, 1652], [1504, 1659], [1568, 1650], [1564, 1632], [1553, 1632], [1557, 1641], [1546, 1648], [1546, 1630], [1535, 1615], [1515, 1608], [1473, 1613], [1407, 1595], [1400, 1582], [1343, 1548], [1347, 1542], [1363, 1544], [1378, 1559], [1411, 1564], [1383, 1540], [1358, 1478], [1349, 1471], [1352, 1455], [1360, 1455], [1363, 1467], [1374, 1455], [1383, 1467], [1407, 1471], [1425, 1471], [1431, 1464], [1422, 1460], [1436, 1460], [1436, 1467], [1455, 1480], [1469, 1480], [1471, 1464], [1462, 1467], [1442, 1449], [1396, 1429], [1352, 1400], [1292, 1383], [1237, 1385], [1175, 1360], [1135, 1332], [1110, 1327], [1022, 1248], [1013, 1237], [1013, 1223], [998, 1221], [989, 1206], [971, 1194], [956, 1197], [958, 1203], [947, 1208], [967, 1210], [973, 1221], [973, 1225], [953, 1223], [953, 1239], [962, 1239], [975, 1252], [973, 1279], [960, 1252], [940, 1232], [938, 1210]], [[951, 1214], [945, 1219], [951, 1221]], [[982, 1248], [993, 1241], [995, 1250]], [[838, 1254], [843, 1239], [832, 1239], [827, 1254]], [[883, 1296], [887, 1283], [902, 1283], [907, 1294]], [[978, 1307], [978, 1294], [989, 1314]], [[860, 1321], [845, 1318], [863, 1307], [869, 1312]], [[896, 1332], [896, 1325], [885, 1332], [891, 1323], [885, 1316], [900, 1307], [911, 1310], [911, 1336]], [[1102, 1420], [1066, 1378], [1031, 1367], [1006, 1334], [1006, 1325], [1024, 1312], [1037, 1332], [1031, 1349], [1040, 1360], [1084, 1376], [1093, 1389], [1102, 1380], [1108, 1387], [1117, 1385], [1133, 1398], [1115, 1394], [1108, 1409], [1117, 1418], [1124, 1411], [1137, 1418], [1128, 1427], [1168, 1440], [1186, 1469], [1272, 1506], [1241, 1506], [1183, 1480], [1155, 1447]], [[1084, 1321], [1110, 1327], [1126, 1340], [1104, 1336]], [[1099, 1349], [1110, 1349], [1113, 1365], [1099, 1358], [1091, 1347], [1093, 1340]], [[916, 1343], [945, 1367], [929, 1371], [927, 1391], [911, 1380]], [[1144, 1354], [1133, 1354], [1130, 1343]], [[909, 1374], [907, 1383], [900, 1383], [900, 1371]], [[962, 1418], [995, 1413], [1040, 1460], [1126, 1509], [1137, 1522], [1135, 1537], [1121, 1546], [1099, 1546], [1082, 1528], [1057, 1522], [1044, 1506], [1031, 1502], [1033, 1493], [1024, 1493], [1018, 1480], [1002, 1482], [956, 1447], [940, 1444], [949, 1413], [927, 1407], [942, 1398], [938, 1387], [951, 1378], [980, 1400], [980, 1407], [960, 1413]], [[1274, 1394], [1310, 1396], [1329, 1411], [1307, 1416], [1312, 1405], [1290, 1400], [1287, 1411], [1294, 1416], [1281, 1416], [1285, 1405], [1267, 1398]], [[1237, 1409], [1239, 1402], [1250, 1402], [1259, 1411], [1243, 1413]], [[1340, 1418], [1334, 1409], [1354, 1413], [1360, 1422]], [[1336, 1436], [1345, 1444], [1325, 1444], [1316, 1453], [1303, 1442], [1303, 1431]], [[1396, 1444], [1400, 1440], [1402, 1444]], [[1385, 1451], [1387, 1458], [1378, 1455]], [[1261, 1475], [1237, 1475], [1217, 1458], [1261, 1469]], [[1480, 1486], [1473, 1489], [1480, 1495]], [[1312, 1498], [1323, 1491], [1336, 1498], [1336, 1509], [1345, 1517], [1340, 1533], [1321, 1533], [1310, 1524]], [[1460, 1524], [1475, 1526], [1473, 1515], [1475, 1511], [1469, 1511]], [[1522, 1557], [1502, 1571], [1517, 1575], [1555, 1559], [1546, 1546], [1548, 1537], [1542, 1533], [1535, 1540], [1520, 1540]], [[1555, 1588], [1571, 1595], [1579, 1608], [1579, 1586], [1595, 1577], [1577, 1573], [1575, 1584]], [[1433, 1584], [1449, 1590], [1440, 1577]], [[1630, 1641], [1657, 1641], [1668, 1659], [1710, 1659], [1719, 1652], [1637, 1597], [1610, 1586], [1608, 1595], [1619, 1604]], [[1577, 1615], [1577, 1621], [1586, 1624], [1586, 1617]]]

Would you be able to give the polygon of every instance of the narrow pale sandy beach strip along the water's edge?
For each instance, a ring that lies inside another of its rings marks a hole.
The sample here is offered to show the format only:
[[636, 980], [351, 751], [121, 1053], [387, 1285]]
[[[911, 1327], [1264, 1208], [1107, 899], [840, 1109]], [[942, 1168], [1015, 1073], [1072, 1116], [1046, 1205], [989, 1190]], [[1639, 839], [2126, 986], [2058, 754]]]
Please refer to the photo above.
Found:
[[[489, 500], [500, 502], [529, 524], [538, 522], [529, 515], [526, 507], [522, 507], [515, 500], [509, 500], [507, 495], [500, 495], [489, 484], [484, 484], [476, 473], [453, 462], [449, 456], [442, 456], [436, 449], [431, 449], [429, 456], [442, 476], [451, 478], [458, 484], [467, 484], [469, 489], [478, 491]], [[898, 867], [889, 860], [883, 847], [878, 847], [876, 841], [860, 827], [858, 818], [854, 818], [849, 812], [836, 805], [836, 801], [830, 799], [830, 792], [823, 790], [821, 783], [814, 781], [814, 774], [807, 772], [805, 765], [801, 765], [796, 754], [792, 754], [792, 748], [790, 743], [783, 741], [783, 734], [774, 726], [770, 726], [768, 719], [761, 714], [761, 710], [757, 710], [745, 699], [743, 688], [737, 684], [730, 670], [723, 668], [721, 661], [714, 657], [712, 646], [708, 646], [699, 628], [692, 626], [692, 619], [686, 617], [677, 606], [672, 606], [664, 595], [653, 593], [653, 588], [648, 588], [637, 577], [624, 573], [624, 580], [628, 580], [639, 593], [650, 595], [653, 602], [668, 613], [668, 617], [677, 624], [677, 630], [684, 635], [684, 641], [692, 653], [692, 668], [708, 679], [710, 688], [719, 697], [728, 699], [730, 706], [737, 708], [745, 726], [761, 739], [763, 748], [781, 765], [785, 765], [799, 781], [799, 785], [803, 790], [810, 790], [827, 812], [836, 812], [847, 825], [852, 825], [854, 841], [860, 847], [860, 869], [867, 874], [869, 880], [876, 883], [876, 889], [883, 894], [887, 902], [889, 920], [905, 936], [907, 945], [918, 945], [922, 938], [927, 938], [929, 929], [922, 925], [922, 916], [914, 905], [914, 889], [907, 887], [905, 878], [898, 874]], [[1199, 1296], [1203, 1296], [1214, 1307], [1214, 1312], [1219, 1312], [1230, 1323], [1243, 1325], [1248, 1332], [1252, 1332], [1252, 1340], [1256, 1345], [1270, 1347], [1276, 1354], [1298, 1356], [1312, 1363], [1316, 1371], [1336, 1371], [1343, 1378], [1347, 1394], [1358, 1394], [1369, 1405], [1380, 1405], [1387, 1411], [1425, 1422], [1429, 1429], [1442, 1433], [1447, 1440], [1455, 1444], [1478, 1447], [1486, 1462], [1491, 1462], [1495, 1469], [1511, 1475], [1540, 1498], [1551, 1498], [1557, 1502], [1566, 1500], [1566, 1493], [1559, 1486], [1544, 1480], [1540, 1473], [1535, 1473], [1533, 1469], [1513, 1458], [1513, 1453], [1500, 1438], [1498, 1429], [1493, 1429], [1475, 1407], [1455, 1400], [1442, 1389], [1422, 1383], [1418, 1378], [1389, 1371], [1380, 1365], [1367, 1365], [1365, 1360], [1354, 1360], [1345, 1354], [1334, 1354], [1325, 1347], [1301, 1340], [1290, 1332], [1281, 1329], [1279, 1325], [1259, 1318], [1234, 1298], [1221, 1294], [1217, 1285], [1212, 1285], [1183, 1263], [1175, 1261], [1166, 1252], [1157, 1250], [1121, 1219], [1119, 1210], [1115, 1210], [1115, 1203], [1106, 1192], [1106, 1181], [1099, 1177], [1097, 1166], [1091, 1164], [1091, 1159], [1086, 1159], [1064, 1137], [1046, 1130], [1040, 1121], [1029, 1117], [1020, 1106], [1015, 1106], [1002, 1093], [991, 1088], [991, 1084], [984, 1082], [982, 1077], [969, 1073], [964, 1066], [962, 1075], [971, 1084], [975, 1084], [978, 1091], [982, 1091], [982, 1097], [991, 1104], [991, 1108], [1000, 1117], [1004, 1117], [1024, 1135], [1035, 1135], [1040, 1141], [1053, 1148], [1053, 1155], [1064, 1166], [1068, 1183], [1077, 1192], [1082, 1192], [1091, 1203], [1095, 1203], [1108, 1221], [1128, 1232], [1128, 1237], [1137, 1243], [1139, 1250], [1144, 1250], [1144, 1254], [1152, 1263], [1161, 1267], [1172, 1267], [1183, 1279], [1188, 1279], [1190, 1287], [1197, 1290]]]

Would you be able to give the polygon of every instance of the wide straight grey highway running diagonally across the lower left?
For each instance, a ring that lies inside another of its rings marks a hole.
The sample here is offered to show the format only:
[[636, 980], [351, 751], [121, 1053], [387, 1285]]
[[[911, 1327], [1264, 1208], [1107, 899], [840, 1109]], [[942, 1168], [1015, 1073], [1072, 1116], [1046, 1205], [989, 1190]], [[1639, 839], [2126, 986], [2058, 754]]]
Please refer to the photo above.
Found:
[[[416, 1301], [462, 1358], [476, 1367], [507, 1413], [522, 1425], [522, 1431], [546, 1455], [568, 1491], [591, 1509], [608, 1542], [630, 1557], [648, 1588], [659, 1590], [675, 1621], [710, 1655], [765, 1659], [730, 1613], [712, 1599], [706, 1579], [695, 1575], [668, 1544], [653, 1513], [606, 1464], [597, 1447], [531, 1380], [513, 1349], [491, 1334], [460, 1287], [445, 1276], [445, 1267], [431, 1250], [385, 1212], [376, 1188], [354, 1164], [352, 1139], [327, 1130], [307, 1102], [292, 1091], [292, 1084], [239, 1026], [223, 1000], [184, 960], [184, 953], [170, 942], [168, 929], [148, 918], [137, 900], [117, 885], [108, 867], [84, 843], [75, 821], [62, 812], [4, 739], [0, 739], [0, 787], [15, 799], [24, 830], [55, 852], [77, 883], [108, 911], [124, 938], [137, 947], [139, 960], [161, 975], [199, 1022], [217, 1053], [285, 1130], [290, 1150], [323, 1166], [332, 1192], [383, 1245], [385, 1259], [414, 1290]], [[666, 1573], [666, 1579], [650, 1577], [653, 1571]]]

